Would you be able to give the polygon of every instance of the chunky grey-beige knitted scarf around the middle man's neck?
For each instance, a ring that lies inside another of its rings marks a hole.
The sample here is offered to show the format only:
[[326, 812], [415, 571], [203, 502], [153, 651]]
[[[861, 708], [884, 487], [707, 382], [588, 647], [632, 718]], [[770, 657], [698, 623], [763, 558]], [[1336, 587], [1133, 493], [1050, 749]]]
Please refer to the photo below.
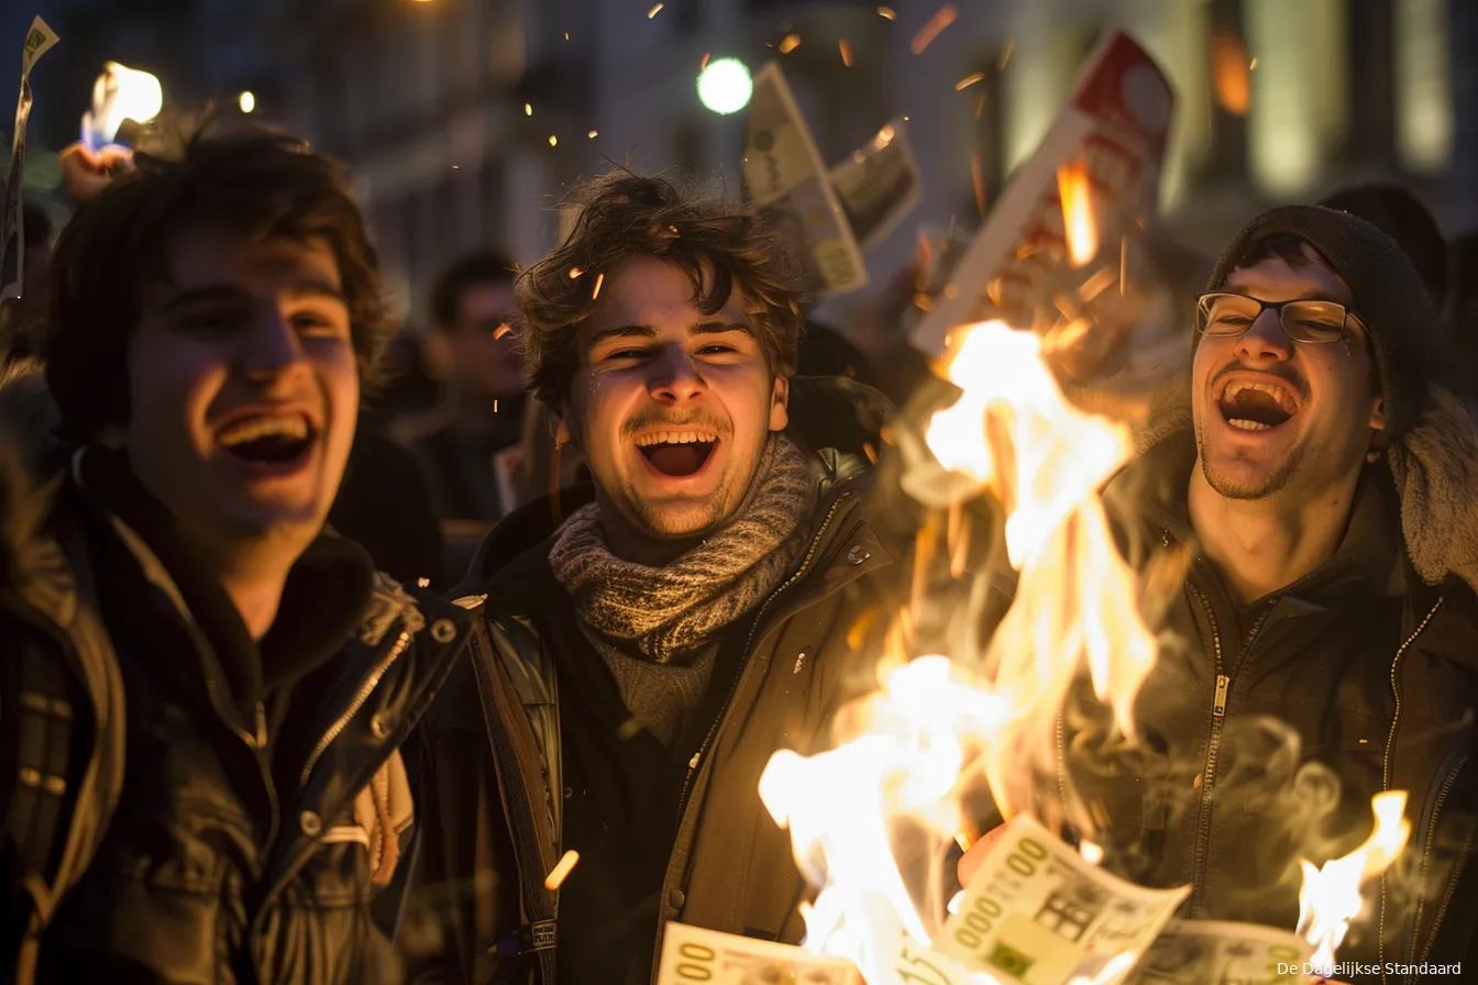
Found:
[[575, 604], [627, 707], [662, 741], [696, 710], [718, 634], [752, 611], [806, 551], [817, 481], [806, 456], [772, 434], [733, 520], [662, 567], [610, 552], [596, 504], [571, 514], [550, 569]]

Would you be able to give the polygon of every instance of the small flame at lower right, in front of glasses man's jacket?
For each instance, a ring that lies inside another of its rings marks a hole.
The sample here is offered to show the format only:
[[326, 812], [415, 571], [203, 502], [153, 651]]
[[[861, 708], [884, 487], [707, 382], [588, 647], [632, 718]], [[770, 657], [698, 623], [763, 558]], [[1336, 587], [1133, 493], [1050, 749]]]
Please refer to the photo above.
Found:
[[1314, 945], [1315, 967], [1335, 963], [1335, 951], [1349, 930], [1349, 921], [1360, 916], [1363, 899], [1360, 886], [1386, 870], [1406, 848], [1411, 823], [1406, 820], [1406, 792], [1386, 790], [1370, 799], [1376, 826], [1364, 845], [1321, 867], [1308, 859], [1304, 886], [1298, 895], [1298, 933]]

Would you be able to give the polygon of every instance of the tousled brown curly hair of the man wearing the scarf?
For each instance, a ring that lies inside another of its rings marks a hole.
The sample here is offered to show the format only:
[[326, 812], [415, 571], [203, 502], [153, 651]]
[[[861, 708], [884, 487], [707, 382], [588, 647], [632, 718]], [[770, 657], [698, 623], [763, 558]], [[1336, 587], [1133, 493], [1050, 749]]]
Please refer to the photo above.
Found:
[[662, 179], [630, 171], [594, 179], [572, 198], [581, 211], [569, 238], [529, 267], [513, 292], [529, 390], [541, 403], [562, 408], [579, 362], [575, 328], [596, 309], [596, 284], [634, 257], [680, 267], [705, 315], [739, 291], [770, 372], [795, 374], [801, 294], [758, 213], [687, 198]]

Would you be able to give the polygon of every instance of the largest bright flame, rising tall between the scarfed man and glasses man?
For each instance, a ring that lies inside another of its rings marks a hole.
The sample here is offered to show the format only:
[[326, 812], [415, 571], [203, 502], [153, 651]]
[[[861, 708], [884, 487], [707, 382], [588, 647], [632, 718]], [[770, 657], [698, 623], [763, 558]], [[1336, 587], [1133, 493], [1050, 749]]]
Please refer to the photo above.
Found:
[[[881, 691], [841, 716], [851, 741], [811, 758], [779, 752], [760, 780], [801, 871], [820, 888], [806, 911], [806, 947], [851, 960], [871, 985], [905, 981], [896, 945], [930, 947], [944, 919], [915, 908], [888, 840], [894, 823], [907, 818], [944, 846], [964, 827], [961, 797], [981, 777], [1005, 817], [1038, 809], [1048, 800], [1039, 794], [1055, 800], [1066, 783], [1057, 715], [1083, 665], [1131, 734], [1129, 710], [1156, 656], [1138, 582], [1097, 495], [1131, 455], [1128, 430], [1066, 400], [1036, 335], [990, 322], [955, 337], [944, 372], [962, 393], [933, 415], [924, 442], [936, 468], [1004, 508], [1007, 555], [1020, 572], [1015, 601], [984, 653], [962, 648], [953, 660], [902, 662], [905, 608]], [[925, 526], [919, 554], [940, 552], [964, 576], [968, 515], [958, 498], [947, 505], [949, 523]], [[928, 604], [927, 595], [916, 601]], [[1051, 786], [1039, 789], [1048, 775]], [[1091, 831], [1091, 820], [1073, 820]], [[1083, 851], [1092, 857], [1095, 846]], [[943, 901], [937, 874], [930, 886], [927, 898]]]

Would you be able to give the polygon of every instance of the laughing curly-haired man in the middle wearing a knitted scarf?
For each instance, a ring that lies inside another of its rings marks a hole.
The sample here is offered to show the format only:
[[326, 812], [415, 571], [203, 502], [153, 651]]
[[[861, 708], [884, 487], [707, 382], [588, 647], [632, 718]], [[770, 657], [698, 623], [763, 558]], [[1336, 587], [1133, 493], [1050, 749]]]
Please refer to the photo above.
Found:
[[469, 678], [427, 719], [442, 970], [647, 982], [670, 920], [798, 941], [760, 774], [871, 690], [847, 636], [893, 558], [865, 477], [788, 428], [782, 255], [743, 207], [615, 174], [516, 300], [531, 390], [594, 483], [557, 527], [550, 502], [505, 520], [458, 600]]

